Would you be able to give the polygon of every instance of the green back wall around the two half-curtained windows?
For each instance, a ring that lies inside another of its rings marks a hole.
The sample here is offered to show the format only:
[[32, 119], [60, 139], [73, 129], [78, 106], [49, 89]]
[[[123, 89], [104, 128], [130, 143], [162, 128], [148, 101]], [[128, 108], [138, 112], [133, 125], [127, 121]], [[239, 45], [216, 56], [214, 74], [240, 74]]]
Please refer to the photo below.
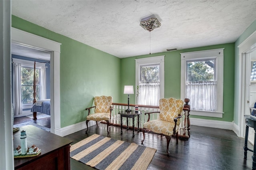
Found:
[[[124, 85], [135, 85], [135, 59], [165, 55], [164, 57], [164, 97], [180, 99], [180, 53], [208, 49], [224, 49], [224, 89], [223, 89], [223, 118], [190, 116], [200, 119], [211, 119], [232, 122], [234, 117], [234, 43], [198, 47], [140, 55], [121, 59], [121, 103], [127, 103], [127, 95], [122, 94]], [[127, 67], [129, 66], [129, 67]], [[135, 103], [135, 94], [130, 95], [130, 103]]]

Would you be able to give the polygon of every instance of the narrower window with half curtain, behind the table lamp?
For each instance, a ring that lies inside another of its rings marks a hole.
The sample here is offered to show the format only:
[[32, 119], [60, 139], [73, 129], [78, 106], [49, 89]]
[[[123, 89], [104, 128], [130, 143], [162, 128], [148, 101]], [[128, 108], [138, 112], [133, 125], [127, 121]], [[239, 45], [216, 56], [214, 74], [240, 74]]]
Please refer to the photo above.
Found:
[[164, 98], [164, 56], [136, 60], [136, 86], [139, 86], [138, 105], [159, 105]]

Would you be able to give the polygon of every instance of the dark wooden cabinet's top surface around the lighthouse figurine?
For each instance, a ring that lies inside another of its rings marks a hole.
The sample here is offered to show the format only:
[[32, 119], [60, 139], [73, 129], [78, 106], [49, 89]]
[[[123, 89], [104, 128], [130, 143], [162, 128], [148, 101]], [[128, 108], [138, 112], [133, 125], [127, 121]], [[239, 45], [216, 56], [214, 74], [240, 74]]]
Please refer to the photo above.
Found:
[[14, 148], [17, 148], [18, 145], [21, 145], [20, 132], [22, 130], [26, 131], [27, 147], [31, 147], [33, 144], [35, 144], [39, 149], [41, 149], [41, 153], [38, 156], [34, 156], [34, 157], [14, 158], [14, 167], [21, 166], [22, 164], [28, 164], [29, 162], [38, 160], [43, 156], [50, 154], [55, 150], [63, 148], [73, 142], [72, 140], [58, 136], [51, 132], [47, 132], [46, 130], [42, 130], [38, 127], [34, 127], [33, 125], [28, 125], [28, 126], [20, 127], [20, 130], [14, 132], [13, 134]]

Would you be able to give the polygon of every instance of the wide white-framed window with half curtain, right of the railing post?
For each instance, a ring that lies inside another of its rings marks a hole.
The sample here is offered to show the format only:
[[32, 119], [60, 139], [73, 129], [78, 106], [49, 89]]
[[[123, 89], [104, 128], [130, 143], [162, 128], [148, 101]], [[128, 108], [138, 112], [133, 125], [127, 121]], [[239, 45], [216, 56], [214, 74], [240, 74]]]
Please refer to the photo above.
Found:
[[181, 53], [181, 97], [191, 115], [222, 117], [223, 49]]

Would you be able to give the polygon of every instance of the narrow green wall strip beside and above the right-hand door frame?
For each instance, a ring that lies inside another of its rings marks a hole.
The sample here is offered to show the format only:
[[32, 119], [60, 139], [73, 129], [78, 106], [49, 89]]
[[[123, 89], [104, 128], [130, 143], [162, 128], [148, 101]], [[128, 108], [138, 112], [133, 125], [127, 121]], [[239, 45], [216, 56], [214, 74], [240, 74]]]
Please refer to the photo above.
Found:
[[256, 31], [256, 20], [241, 34], [241, 36], [235, 42], [235, 86], [234, 86], [234, 123], [239, 125], [238, 123], [238, 115], [241, 114], [238, 110], [238, 93], [239, 93], [239, 49], [238, 45], [240, 45], [246, 38], [248, 38], [252, 33]]

